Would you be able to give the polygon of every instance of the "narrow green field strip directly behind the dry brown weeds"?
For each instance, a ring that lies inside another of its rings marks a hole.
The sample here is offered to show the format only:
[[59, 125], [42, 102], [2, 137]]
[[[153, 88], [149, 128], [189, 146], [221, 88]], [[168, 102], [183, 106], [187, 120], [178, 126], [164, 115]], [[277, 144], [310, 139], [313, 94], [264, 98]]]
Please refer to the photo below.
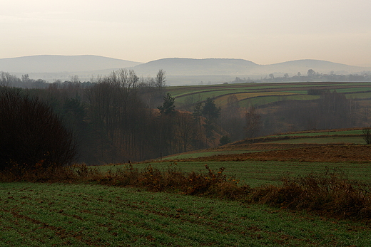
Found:
[[[153, 168], [168, 169], [169, 166], [176, 166], [184, 172], [205, 171], [205, 164], [210, 169], [217, 171], [225, 167], [224, 173], [228, 177], [235, 177], [240, 184], [249, 186], [261, 186], [265, 184], [281, 184], [283, 176], [304, 176], [312, 172], [323, 173], [326, 169], [340, 170], [350, 179], [371, 184], [371, 164], [349, 164], [349, 163], [325, 163], [325, 162], [277, 162], [277, 161], [243, 161], [243, 162], [152, 162], [133, 164], [134, 168], [143, 169], [151, 164]], [[116, 169], [123, 169], [123, 165], [111, 165], [98, 167], [101, 171], [113, 172]]]

